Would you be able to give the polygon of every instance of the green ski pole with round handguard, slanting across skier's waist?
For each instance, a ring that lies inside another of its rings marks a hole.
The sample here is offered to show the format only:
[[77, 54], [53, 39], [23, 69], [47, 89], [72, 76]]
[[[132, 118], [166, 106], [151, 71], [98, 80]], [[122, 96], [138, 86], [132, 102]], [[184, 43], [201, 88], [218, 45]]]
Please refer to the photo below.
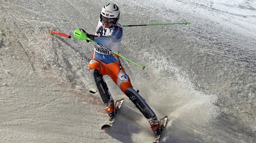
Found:
[[[89, 38], [84, 32], [80, 31], [80, 29], [76, 29], [75, 32], [74, 32], [74, 37], [78, 40], [89, 40], [91, 42], [93, 42], [94, 44], [98, 44], [97, 42], [91, 40], [91, 38]], [[100, 44], [98, 44], [100, 45]], [[102, 46], [102, 45], [101, 45]], [[104, 47], [104, 46], [103, 46]], [[106, 48], [106, 47], [104, 47]], [[108, 50], [110, 50], [109, 48], [106, 48]], [[138, 63], [135, 63], [134, 61], [131, 61], [130, 59], [116, 53], [115, 51], [113, 50], [110, 50], [112, 53], [115, 53], [116, 55], [118, 55], [119, 57], [122, 57], [124, 59], [126, 59], [127, 61], [130, 61], [131, 63], [134, 63], [135, 65], [138, 65], [139, 67], [141, 67], [142, 69], [145, 69], [145, 70], [148, 70], [145, 66], [142, 66], [142, 65], [139, 65]]]

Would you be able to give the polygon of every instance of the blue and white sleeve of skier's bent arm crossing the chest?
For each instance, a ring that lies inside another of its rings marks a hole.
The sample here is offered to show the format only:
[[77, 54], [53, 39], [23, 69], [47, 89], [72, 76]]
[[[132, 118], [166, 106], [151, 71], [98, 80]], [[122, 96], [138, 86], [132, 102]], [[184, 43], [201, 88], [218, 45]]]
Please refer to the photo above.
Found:
[[119, 26], [115, 26], [111, 35], [109, 36], [94, 36], [95, 42], [101, 45], [109, 45], [111, 42], [117, 42], [123, 36], [123, 28]]

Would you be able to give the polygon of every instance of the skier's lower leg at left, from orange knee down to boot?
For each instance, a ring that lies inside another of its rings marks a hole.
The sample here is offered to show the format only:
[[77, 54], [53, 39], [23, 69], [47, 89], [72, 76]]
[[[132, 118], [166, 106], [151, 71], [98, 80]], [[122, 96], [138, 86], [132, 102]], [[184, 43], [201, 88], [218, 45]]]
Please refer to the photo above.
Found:
[[[93, 69], [93, 67], [95, 69]], [[88, 67], [91, 78], [97, 88], [97, 90], [100, 93], [100, 97], [102, 99], [102, 103], [106, 103], [106, 112], [108, 113], [109, 116], [114, 116], [115, 115], [115, 103], [114, 100], [108, 90], [108, 86], [100, 73], [100, 63], [98, 61], [93, 60], [93, 62], [89, 63]], [[99, 70], [98, 70], [99, 69]]]

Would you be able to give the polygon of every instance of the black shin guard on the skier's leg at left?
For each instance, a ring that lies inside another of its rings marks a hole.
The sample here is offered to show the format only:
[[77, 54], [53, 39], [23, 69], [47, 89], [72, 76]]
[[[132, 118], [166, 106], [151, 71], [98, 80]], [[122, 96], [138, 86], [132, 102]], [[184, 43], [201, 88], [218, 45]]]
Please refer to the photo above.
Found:
[[108, 103], [110, 100], [110, 92], [108, 90], [108, 86], [106, 85], [106, 82], [104, 81], [104, 78], [102, 74], [97, 69], [90, 70], [91, 77], [93, 78], [93, 82], [97, 86], [97, 89], [100, 93], [100, 97], [102, 99], [103, 103]]

